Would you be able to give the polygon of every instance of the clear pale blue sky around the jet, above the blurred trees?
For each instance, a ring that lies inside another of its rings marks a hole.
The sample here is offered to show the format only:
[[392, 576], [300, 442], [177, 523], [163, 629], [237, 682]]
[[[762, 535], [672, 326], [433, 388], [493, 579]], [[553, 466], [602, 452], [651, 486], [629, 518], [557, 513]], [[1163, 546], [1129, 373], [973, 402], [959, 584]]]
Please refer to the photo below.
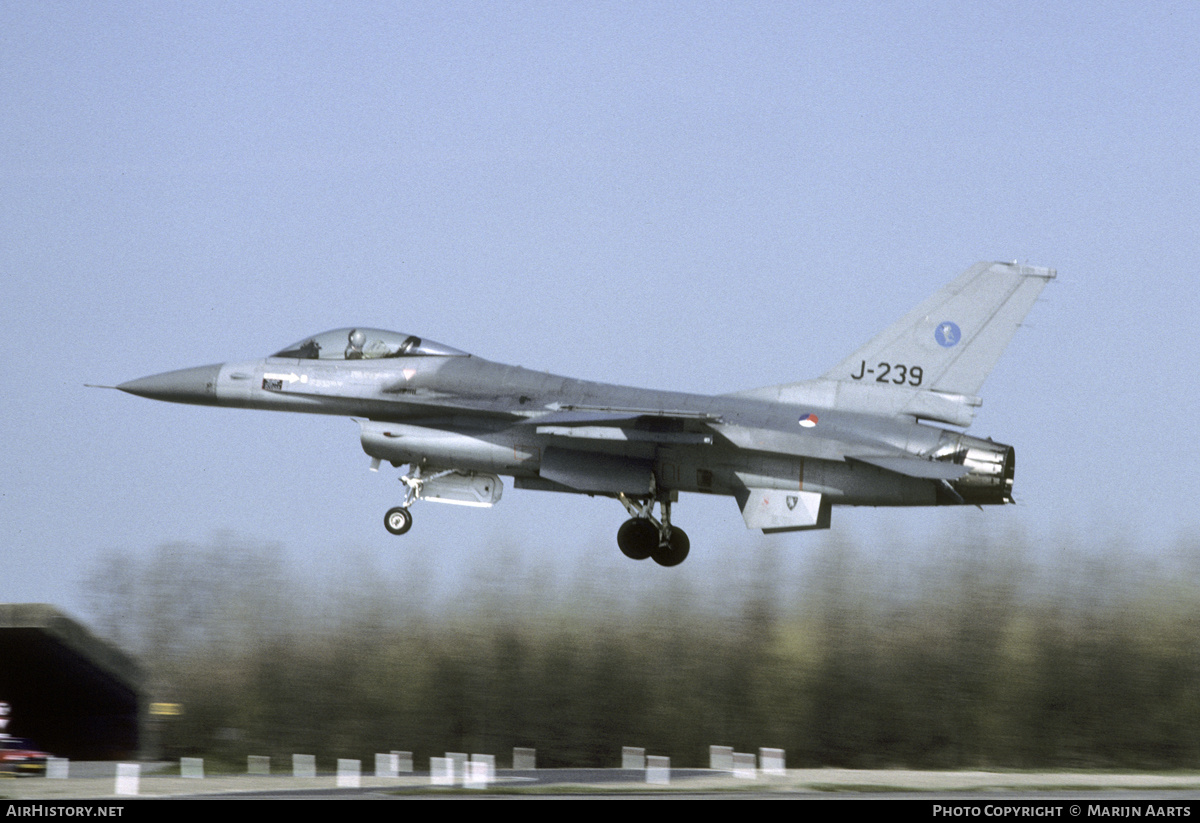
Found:
[[[6, 2], [0, 601], [78, 609], [106, 552], [221, 531], [317, 573], [629, 564], [608, 500], [509, 488], [397, 540], [352, 422], [84, 383], [366, 325], [733, 391], [980, 259], [1060, 274], [971, 428], [1016, 446], [1020, 505], [834, 529], [1194, 537], [1198, 38], [1189, 2]], [[646, 575], [824, 539], [674, 516], [692, 557]]]

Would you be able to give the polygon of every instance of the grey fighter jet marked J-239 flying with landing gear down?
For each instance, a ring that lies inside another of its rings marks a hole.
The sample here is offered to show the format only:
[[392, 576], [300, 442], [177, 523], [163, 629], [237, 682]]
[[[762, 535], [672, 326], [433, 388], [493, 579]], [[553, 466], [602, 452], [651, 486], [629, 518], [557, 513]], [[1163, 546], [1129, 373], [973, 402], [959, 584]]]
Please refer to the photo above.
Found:
[[576, 380], [364, 326], [116, 389], [355, 419], [373, 470], [407, 467], [384, 517], [396, 535], [418, 500], [496, 504], [503, 475], [616, 499], [629, 513], [620, 551], [673, 566], [690, 548], [671, 521], [680, 492], [732, 497], [767, 534], [827, 529], [835, 505], [1012, 503], [1013, 447], [961, 429], [1055, 274], [976, 264], [822, 377], [728, 395]]

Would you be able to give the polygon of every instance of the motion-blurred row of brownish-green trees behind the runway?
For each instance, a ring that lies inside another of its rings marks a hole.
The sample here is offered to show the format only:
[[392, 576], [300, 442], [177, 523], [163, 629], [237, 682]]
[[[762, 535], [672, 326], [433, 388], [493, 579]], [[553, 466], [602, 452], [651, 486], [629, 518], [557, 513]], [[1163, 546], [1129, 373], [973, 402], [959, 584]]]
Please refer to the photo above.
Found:
[[150, 699], [184, 707], [158, 753], [506, 764], [533, 746], [539, 765], [612, 767], [637, 745], [707, 765], [721, 744], [781, 747], [790, 767], [1200, 763], [1195, 542], [1151, 559], [834, 534], [731, 552], [715, 575], [606, 548], [565, 582], [499, 548], [437, 597], [427, 567], [371, 557], [316, 582], [230, 537], [100, 563], [94, 626], [148, 667]]

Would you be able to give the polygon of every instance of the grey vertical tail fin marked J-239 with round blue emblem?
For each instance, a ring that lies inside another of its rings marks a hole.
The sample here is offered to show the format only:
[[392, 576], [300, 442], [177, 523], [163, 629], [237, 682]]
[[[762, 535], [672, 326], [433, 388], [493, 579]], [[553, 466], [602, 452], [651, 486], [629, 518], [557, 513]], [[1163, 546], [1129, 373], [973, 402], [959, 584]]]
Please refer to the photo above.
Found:
[[973, 397], [1054, 269], [977, 263], [823, 377]]

